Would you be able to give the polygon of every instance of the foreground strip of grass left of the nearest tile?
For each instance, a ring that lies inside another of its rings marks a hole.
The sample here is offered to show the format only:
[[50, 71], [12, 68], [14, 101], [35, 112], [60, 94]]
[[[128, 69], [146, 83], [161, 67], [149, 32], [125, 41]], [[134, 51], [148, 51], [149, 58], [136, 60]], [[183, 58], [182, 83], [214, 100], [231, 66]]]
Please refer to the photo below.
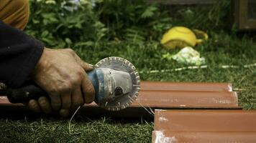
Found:
[[[152, 123], [77, 119], [69, 134], [68, 121], [1, 119], [1, 142], [150, 142]], [[11, 140], [12, 139], [12, 140]]]

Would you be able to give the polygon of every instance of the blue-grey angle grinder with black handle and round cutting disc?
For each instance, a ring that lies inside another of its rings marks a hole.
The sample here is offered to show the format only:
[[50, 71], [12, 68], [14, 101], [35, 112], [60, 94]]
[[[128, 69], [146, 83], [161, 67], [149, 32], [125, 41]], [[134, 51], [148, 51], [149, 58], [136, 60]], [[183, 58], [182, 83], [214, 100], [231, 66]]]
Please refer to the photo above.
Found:
[[[101, 59], [93, 71], [87, 73], [96, 92], [95, 100], [99, 107], [119, 111], [129, 107], [137, 99], [140, 91], [140, 76], [134, 65], [117, 56]], [[0, 89], [12, 103], [28, 102], [47, 95], [36, 84], [18, 89]]]

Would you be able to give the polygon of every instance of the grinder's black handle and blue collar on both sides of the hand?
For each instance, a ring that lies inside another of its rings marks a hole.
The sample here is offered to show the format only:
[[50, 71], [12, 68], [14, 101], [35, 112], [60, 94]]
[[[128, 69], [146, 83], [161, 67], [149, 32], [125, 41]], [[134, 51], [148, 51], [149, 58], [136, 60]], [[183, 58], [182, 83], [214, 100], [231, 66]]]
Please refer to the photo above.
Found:
[[[87, 74], [95, 89], [96, 86], [98, 86], [96, 79], [96, 69], [93, 69], [93, 71], [90, 71]], [[45, 90], [37, 86], [37, 84], [31, 84], [31, 82], [30, 84], [17, 89], [6, 89], [6, 96], [9, 99], [9, 102], [12, 103], [26, 103], [29, 102], [30, 99], [37, 100], [40, 97], [47, 97], [50, 99], [49, 95], [47, 94], [47, 92], [45, 92]]]

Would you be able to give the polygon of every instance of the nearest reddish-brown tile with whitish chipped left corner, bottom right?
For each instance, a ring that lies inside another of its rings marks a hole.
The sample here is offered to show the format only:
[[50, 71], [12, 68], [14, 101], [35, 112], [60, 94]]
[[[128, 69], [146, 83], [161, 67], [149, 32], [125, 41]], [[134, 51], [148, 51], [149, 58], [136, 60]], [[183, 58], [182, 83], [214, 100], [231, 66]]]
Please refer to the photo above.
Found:
[[152, 142], [256, 142], [256, 111], [155, 110]]

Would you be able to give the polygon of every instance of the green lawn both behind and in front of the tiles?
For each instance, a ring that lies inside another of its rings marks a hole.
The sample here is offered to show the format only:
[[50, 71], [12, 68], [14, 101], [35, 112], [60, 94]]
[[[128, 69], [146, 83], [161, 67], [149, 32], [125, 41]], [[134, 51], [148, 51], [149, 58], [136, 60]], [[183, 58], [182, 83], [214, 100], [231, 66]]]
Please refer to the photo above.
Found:
[[[181, 8], [180, 8], [181, 9]], [[185, 7], [183, 9], [188, 9]], [[191, 11], [196, 11], [191, 8]], [[170, 14], [171, 15], [171, 14]], [[173, 20], [173, 25], [188, 25], [188, 21]], [[222, 19], [223, 20], [223, 19]], [[184, 23], [183, 23], [184, 22]], [[200, 21], [196, 21], [200, 22]], [[207, 21], [206, 21], [207, 23]], [[200, 25], [200, 24], [199, 24]], [[122, 56], [140, 71], [142, 80], [170, 82], [229, 82], [238, 93], [239, 105], [256, 109], [256, 36], [232, 30], [225, 21], [217, 27], [201, 26], [209, 40], [195, 47], [206, 59], [207, 68], [180, 71], [188, 65], [163, 59], [163, 54], [178, 51], [164, 49], [157, 40], [100, 40], [97, 44], [74, 45], [73, 49], [88, 63], [107, 56]], [[188, 25], [189, 26], [189, 25]], [[196, 28], [201, 28], [196, 26]], [[227, 29], [229, 27], [229, 29]], [[87, 43], [88, 44], [88, 43]], [[226, 67], [236, 66], [236, 67]], [[244, 66], [249, 65], [249, 66]], [[157, 95], [156, 95], [157, 96]], [[69, 132], [69, 118], [58, 119], [42, 115], [39, 118], [0, 119], [1, 142], [150, 142], [154, 127], [150, 119], [111, 119], [75, 116]]]

